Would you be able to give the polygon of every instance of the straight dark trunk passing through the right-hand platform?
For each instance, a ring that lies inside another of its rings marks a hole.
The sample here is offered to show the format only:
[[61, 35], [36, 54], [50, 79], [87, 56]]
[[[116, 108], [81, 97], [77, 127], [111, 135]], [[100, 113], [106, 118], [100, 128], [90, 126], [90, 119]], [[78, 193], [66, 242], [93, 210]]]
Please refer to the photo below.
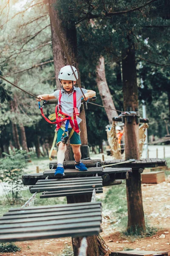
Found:
[[[122, 52], [123, 101], [124, 110], [138, 110], [138, 86], [136, 80], [135, 51], [133, 47]], [[125, 159], [140, 159], [139, 124], [133, 117], [132, 122], [125, 118]], [[128, 224], [127, 230], [139, 233], [145, 231], [142, 204], [141, 174], [133, 169], [132, 177], [126, 180]]]

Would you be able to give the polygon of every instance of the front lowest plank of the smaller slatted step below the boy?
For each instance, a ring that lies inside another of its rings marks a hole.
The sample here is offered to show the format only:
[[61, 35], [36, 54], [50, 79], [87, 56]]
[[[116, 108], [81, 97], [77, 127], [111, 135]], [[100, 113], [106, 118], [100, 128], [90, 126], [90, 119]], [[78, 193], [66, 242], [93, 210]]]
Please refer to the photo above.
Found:
[[[96, 191], [97, 194], [102, 193], [103, 189]], [[40, 195], [40, 198], [54, 198], [54, 197], [63, 197], [63, 196], [73, 196], [73, 195], [92, 195], [93, 190], [91, 191], [76, 191], [76, 192], [62, 192], [62, 193], [45, 193]]]

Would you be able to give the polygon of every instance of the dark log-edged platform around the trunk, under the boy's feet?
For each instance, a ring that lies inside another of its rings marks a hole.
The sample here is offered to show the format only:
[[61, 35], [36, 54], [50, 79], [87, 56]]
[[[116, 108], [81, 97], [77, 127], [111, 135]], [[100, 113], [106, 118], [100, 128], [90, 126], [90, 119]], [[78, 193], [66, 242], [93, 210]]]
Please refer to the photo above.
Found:
[[[101, 170], [101, 167], [99, 170]], [[91, 169], [90, 169], [91, 170]], [[68, 170], [65, 170], [65, 172], [67, 172]], [[74, 169], [75, 171], [75, 169]], [[54, 170], [53, 170], [54, 172]], [[105, 168], [103, 169], [103, 171], [99, 171], [97, 172], [98, 176], [102, 176], [105, 174], [109, 174], [111, 176], [111, 179], [113, 180], [118, 180], [118, 179], [127, 179], [127, 172], [128, 172], [128, 177], [131, 177], [131, 173], [132, 173], [132, 169], [129, 167], [126, 168]], [[67, 173], [67, 176], [63, 176], [62, 179], [65, 178], [69, 178], [69, 177], [92, 177], [92, 176], [96, 176], [96, 172], [79, 172], [78, 170], [76, 172], [71, 172], [71, 175], [69, 176]], [[23, 184], [24, 186], [31, 186], [31, 185], [35, 185], [37, 183], [38, 180], [45, 180], [46, 175], [43, 175], [43, 173], [33, 173], [33, 174], [25, 174], [22, 175], [22, 180], [23, 180]], [[48, 179], [53, 179], [54, 176], [50, 176], [48, 177]], [[103, 186], [105, 186], [105, 183], [103, 183]]]

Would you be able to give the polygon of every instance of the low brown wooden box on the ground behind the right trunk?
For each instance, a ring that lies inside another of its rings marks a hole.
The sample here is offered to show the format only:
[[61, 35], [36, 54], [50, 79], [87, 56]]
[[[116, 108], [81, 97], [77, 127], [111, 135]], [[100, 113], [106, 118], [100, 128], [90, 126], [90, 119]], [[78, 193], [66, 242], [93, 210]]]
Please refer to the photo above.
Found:
[[142, 173], [142, 183], [161, 183], [165, 181], [164, 171]]

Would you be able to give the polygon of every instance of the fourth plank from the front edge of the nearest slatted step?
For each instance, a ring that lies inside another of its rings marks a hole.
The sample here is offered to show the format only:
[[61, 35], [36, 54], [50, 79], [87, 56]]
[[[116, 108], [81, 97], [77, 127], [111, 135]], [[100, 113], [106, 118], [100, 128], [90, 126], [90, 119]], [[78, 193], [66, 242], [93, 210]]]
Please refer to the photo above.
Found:
[[[89, 212], [88, 213], [88, 217], [93, 217], [93, 216], [101, 216], [101, 211], [96, 211], [96, 212]], [[76, 218], [83, 218], [83, 217], [87, 217], [87, 213], [86, 212], [82, 212], [82, 213], [77, 213], [76, 214]], [[60, 215], [59, 218], [65, 219], [65, 215]], [[75, 218], [75, 214], [70, 214], [69, 215], [69, 219], [74, 219]], [[34, 217], [34, 218], [19, 218], [19, 219], [2, 219], [0, 221], [0, 224], [14, 224], [14, 223], [28, 223], [28, 222], [41, 222], [41, 221], [52, 221], [52, 220], [56, 220], [56, 215], [51, 215], [51, 216], [46, 216], [44, 217]]]

